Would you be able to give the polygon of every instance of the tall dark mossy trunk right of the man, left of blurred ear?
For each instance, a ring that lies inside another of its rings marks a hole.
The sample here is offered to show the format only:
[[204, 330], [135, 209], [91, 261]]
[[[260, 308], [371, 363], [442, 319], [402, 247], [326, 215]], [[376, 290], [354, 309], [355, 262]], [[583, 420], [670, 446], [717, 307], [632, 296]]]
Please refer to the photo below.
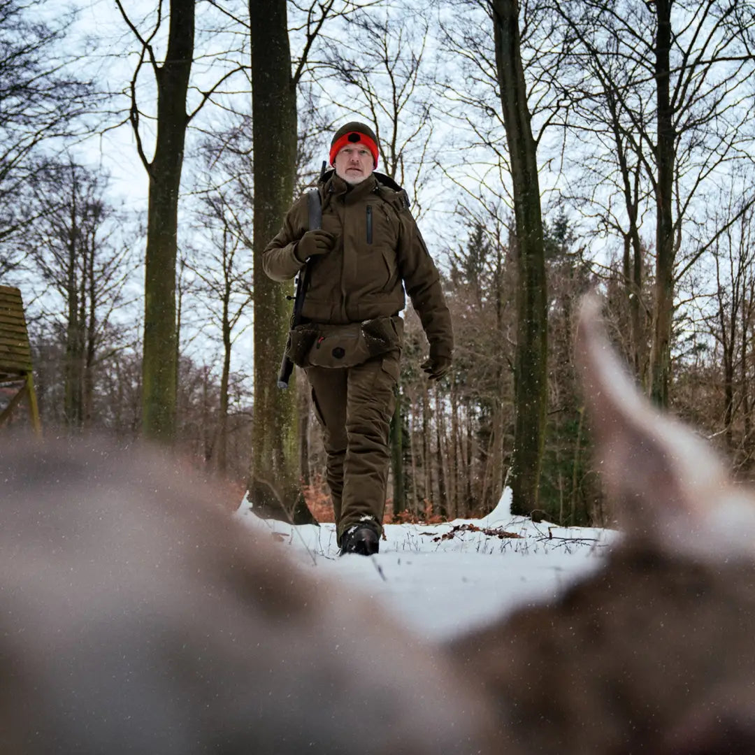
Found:
[[532, 137], [519, 50], [516, 0], [493, 0], [495, 57], [510, 158], [516, 217], [517, 339], [513, 451], [508, 482], [512, 513], [538, 507], [547, 400], [547, 296], [537, 145]]

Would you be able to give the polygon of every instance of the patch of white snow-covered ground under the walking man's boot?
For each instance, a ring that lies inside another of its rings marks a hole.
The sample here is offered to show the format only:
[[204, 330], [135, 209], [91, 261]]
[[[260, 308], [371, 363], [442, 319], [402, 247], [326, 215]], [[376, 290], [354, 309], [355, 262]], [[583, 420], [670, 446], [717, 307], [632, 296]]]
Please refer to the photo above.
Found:
[[511, 516], [510, 491], [484, 519], [386, 525], [376, 556], [339, 557], [333, 524], [292, 526], [236, 513], [313, 575], [384, 602], [421, 636], [442, 639], [557, 596], [599, 569], [618, 533]]

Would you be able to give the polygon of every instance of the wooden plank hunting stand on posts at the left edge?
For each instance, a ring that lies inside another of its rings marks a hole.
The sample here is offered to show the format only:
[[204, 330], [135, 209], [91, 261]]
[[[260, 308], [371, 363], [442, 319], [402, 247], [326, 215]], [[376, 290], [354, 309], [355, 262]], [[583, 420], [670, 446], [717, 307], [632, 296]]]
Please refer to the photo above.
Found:
[[42, 435], [32, 377], [32, 349], [26, 332], [21, 292], [18, 288], [0, 285], [0, 386], [6, 384], [20, 386], [0, 413], [0, 426], [8, 421], [21, 400], [26, 399], [34, 432]]

